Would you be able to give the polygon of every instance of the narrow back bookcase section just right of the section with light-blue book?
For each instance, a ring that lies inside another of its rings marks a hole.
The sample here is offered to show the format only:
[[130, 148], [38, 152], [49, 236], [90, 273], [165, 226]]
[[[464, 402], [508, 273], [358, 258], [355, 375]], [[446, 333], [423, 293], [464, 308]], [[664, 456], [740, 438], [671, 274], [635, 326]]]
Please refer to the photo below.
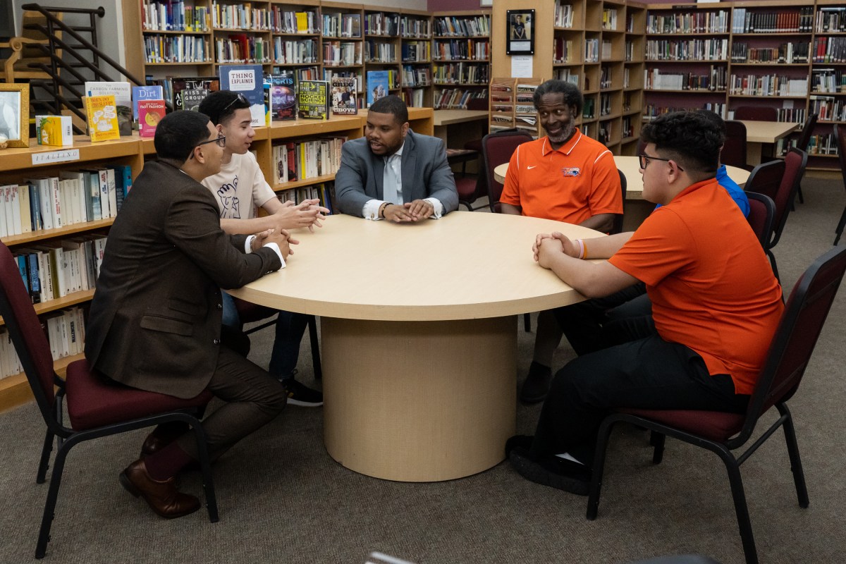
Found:
[[431, 14], [403, 9], [399, 16], [400, 95], [409, 107], [432, 107]]

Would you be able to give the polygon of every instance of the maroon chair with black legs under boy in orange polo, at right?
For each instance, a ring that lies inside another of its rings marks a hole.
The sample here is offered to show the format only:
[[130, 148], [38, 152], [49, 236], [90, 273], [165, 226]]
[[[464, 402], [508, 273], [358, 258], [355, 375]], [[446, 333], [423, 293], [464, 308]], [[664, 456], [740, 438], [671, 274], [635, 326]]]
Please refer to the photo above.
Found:
[[[615, 424], [625, 421], [651, 430], [652, 445], [655, 446], [653, 463], [660, 463], [662, 460], [666, 436], [693, 446], [701, 446], [720, 457], [728, 472], [728, 483], [732, 490], [746, 562], [755, 564], [758, 556], [749, 508], [746, 506], [743, 479], [740, 476], [740, 465], [782, 427], [799, 507], [808, 507], [805, 474], [802, 471], [793, 417], [787, 402], [799, 389], [805, 367], [843, 280], [844, 271], [846, 248], [836, 247], [817, 259], [799, 278], [799, 282], [796, 282], [776, 334], [772, 337], [764, 369], [758, 377], [746, 413], [618, 408], [615, 413], [608, 415], [602, 422], [597, 437], [587, 518], [596, 519], [606, 448], [611, 431]], [[759, 418], [773, 406], [779, 413], [776, 422], [752, 441], [743, 453], [735, 456], [732, 451], [746, 446], [751, 441]]]

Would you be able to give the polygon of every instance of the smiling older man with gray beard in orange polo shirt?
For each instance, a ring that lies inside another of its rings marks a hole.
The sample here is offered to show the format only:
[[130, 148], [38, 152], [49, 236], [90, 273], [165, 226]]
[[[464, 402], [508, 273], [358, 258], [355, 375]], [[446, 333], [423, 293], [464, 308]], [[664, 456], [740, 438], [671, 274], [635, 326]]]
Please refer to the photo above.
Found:
[[[545, 217], [608, 232], [623, 213], [617, 165], [611, 151], [576, 127], [584, 99], [579, 88], [547, 80], [535, 90], [545, 137], [524, 143], [508, 163], [503, 213]], [[551, 311], [538, 315], [535, 354], [520, 390], [526, 403], [543, 401], [552, 380], [552, 354], [562, 337]]]

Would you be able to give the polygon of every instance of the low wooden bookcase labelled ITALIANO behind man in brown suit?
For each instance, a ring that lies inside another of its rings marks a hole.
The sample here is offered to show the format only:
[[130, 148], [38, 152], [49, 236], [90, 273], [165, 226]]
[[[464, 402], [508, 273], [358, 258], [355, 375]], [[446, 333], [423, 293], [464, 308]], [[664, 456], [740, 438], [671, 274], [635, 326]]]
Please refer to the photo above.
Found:
[[[63, 161], [63, 159], [71, 160]], [[107, 229], [112, 225], [113, 216], [116, 214], [109, 213], [103, 216], [103, 208], [100, 208], [99, 217], [105, 218], [94, 219], [97, 216], [92, 215], [89, 221], [84, 215], [85, 204], [82, 199], [85, 197], [85, 190], [80, 192], [82, 183], [74, 179], [74, 186], [69, 182], [71, 178], [76, 178], [77, 171], [85, 171], [99, 177], [97, 172], [106, 170], [107, 167], [121, 167], [131, 178], [137, 176], [142, 167], [137, 135], [96, 144], [91, 143], [87, 137], [80, 136], [75, 138], [74, 145], [69, 147], [36, 145], [35, 140], [32, 140], [29, 148], [0, 151], [0, 186], [17, 185], [20, 189], [21, 186], [31, 184], [36, 188], [27, 189], [28, 194], [34, 195], [36, 192], [44, 194], [45, 187], [38, 188], [35, 181], [41, 178], [56, 179], [48, 183], [50, 188], [47, 189], [52, 192], [54, 201], [59, 203], [57, 207], [52, 208], [52, 218], [49, 222], [62, 222], [61, 227], [55, 227], [53, 224], [54, 227], [51, 228], [38, 228], [49, 225], [45, 209], [41, 207], [40, 217], [36, 218], [33, 210], [30, 209], [30, 213], [27, 214], [26, 206], [21, 205], [19, 208], [22, 218], [20, 231], [23, 233], [0, 238], [3, 244], [11, 249], [13, 255], [27, 257], [26, 270], [22, 271], [22, 277], [25, 277], [25, 283], [33, 296], [33, 308], [41, 316], [45, 326], [52, 325], [53, 320], [62, 317], [74, 306], [84, 308], [94, 295], [91, 288], [96, 275], [91, 275], [87, 266], [93, 266], [91, 260], [95, 258], [94, 242], [100, 239], [102, 247], [102, 238], [107, 234]], [[119, 179], [118, 182], [120, 182]], [[90, 191], [88, 193], [91, 194]], [[103, 200], [102, 205], [106, 205], [109, 196], [107, 193], [103, 195], [106, 200]], [[34, 195], [34, 197], [41, 200], [41, 195]], [[25, 203], [25, 199], [23, 191], [19, 190], [19, 205], [21, 200]], [[33, 205], [33, 201], [30, 199], [30, 205]], [[113, 200], [113, 203], [116, 203], [116, 200]], [[37, 209], [34, 212], [38, 213]], [[87, 256], [85, 255], [86, 242], [89, 244]], [[48, 266], [50, 258], [44, 257], [50, 253], [54, 262], [58, 259], [59, 262], [64, 263], [61, 271], [57, 269], [53, 272], [52, 265]], [[36, 255], [41, 255], [41, 258]], [[62, 256], [64, 259], [60, 258]], [[47, 276], [47, 269], [50, 269], [49, 276]], [[71, 269], [74, 270], [71, 271]], [[45, 273], [41, 277], [33, 274], [33, 272], [41, 271]], [[64, 280], [63, 284], [59, 282], [60, 272]], [[65, 278], [64, 275], [69, 272], [72, 272], [73, 276]], [[47, 282], [44, 287], [41, 287], [41, 280]], [[54, 283], [50, 283], [51, 281]], [[2, 319], [0, 319], [0, 333], [3, 333]], [[0, 337], [5, 338], [7, 334], [3, 333]], [[55, 339], [52, 344], [54, 346], [57, 344]], [[75, 352], [71, 354], [69, 350]], [[8, 347], [4, 349], [4, 353], [10, 354]], [[65, 351], [58, 353], [57, 357], [56, 370], [62, 375], [67, 365], [73, 360], [81, 359], [82, 354], [80, 348], [65, 347]], [[6, 362], [8, 366], [8, 360]], [[16, 373], [0, 378], [0, 411], [27, 402], [30, 398], [31, 392], [24, 374]]]

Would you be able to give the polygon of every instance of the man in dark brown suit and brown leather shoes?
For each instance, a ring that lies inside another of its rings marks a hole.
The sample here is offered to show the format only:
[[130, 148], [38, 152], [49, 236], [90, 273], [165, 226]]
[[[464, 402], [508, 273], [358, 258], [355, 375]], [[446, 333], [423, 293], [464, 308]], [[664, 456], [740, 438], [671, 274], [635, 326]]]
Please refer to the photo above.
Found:
[[[222, 147], [209, 118], [173, 112], [156, 130], [157, 162], [145, 165], [108, 236], [91, 302], [85, 357], [126, 386], [176, 397], [208, 389], [225, 403], [203, 423], [212, 458], [277, 416], [287, 392], [255, 364], [221, 346], [220, 288], [283, 268], [288, 233], [228, 235], [200, 181], [220, 170]], [[160, 425], [120, 476], [162, 517], [200, 507], [174, 477], [196, 459], [184, 426]]]

